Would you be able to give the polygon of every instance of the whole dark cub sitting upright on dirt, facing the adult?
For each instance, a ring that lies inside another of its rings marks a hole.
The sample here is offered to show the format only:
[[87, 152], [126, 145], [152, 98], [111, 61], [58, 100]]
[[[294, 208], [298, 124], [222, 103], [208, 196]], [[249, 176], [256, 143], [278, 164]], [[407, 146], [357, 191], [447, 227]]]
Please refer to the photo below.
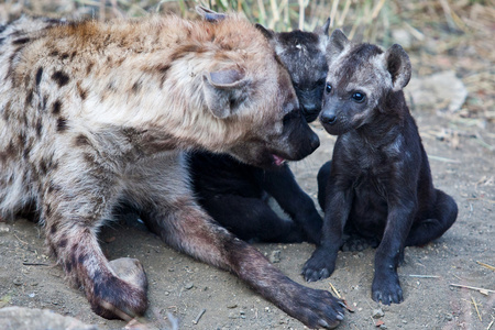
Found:
[[330, 38], [329, 74], [320, 120], [339, 135], [333, 157], [318, 174], [324, 209], [321, 245], [304, 267], [307, 280], [330, 276], [343, 232], [380, 241], [372, 296], [403, 301], [397, 265], [404, 248], [441, 237], [458, 207], [435, 189], [428, 157], [403, 88], [411, 74], [399, 45], [386, 52], [353, 44], [341, 31]]

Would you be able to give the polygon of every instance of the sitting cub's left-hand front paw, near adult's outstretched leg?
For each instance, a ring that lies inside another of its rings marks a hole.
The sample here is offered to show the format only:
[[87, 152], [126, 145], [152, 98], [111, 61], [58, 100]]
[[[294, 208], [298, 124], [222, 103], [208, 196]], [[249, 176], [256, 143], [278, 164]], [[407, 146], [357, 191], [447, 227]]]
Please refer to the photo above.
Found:
[[336, 270], [336, 253], [318, 248], [302, 267], [307, 282], [316, 282], [329, 277]]

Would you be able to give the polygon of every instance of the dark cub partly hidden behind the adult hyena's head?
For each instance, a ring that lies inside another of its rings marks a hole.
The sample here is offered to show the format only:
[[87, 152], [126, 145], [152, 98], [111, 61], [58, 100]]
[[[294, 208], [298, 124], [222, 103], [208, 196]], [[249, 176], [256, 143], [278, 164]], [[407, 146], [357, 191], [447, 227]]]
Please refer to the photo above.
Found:
[[[226, 15], [210, 12], [207, 20]], [[260, 24], [276, 56], [287, 68], [301, 116], [314, 121], [321, 110], [327, 78], [326, 50], [330, 20], [314, 32], [275, 33]], [[287, 164], [265, 170], [242, 164], [229, 155], [194, 153], [190, 156], [193, 184], [198, 200], [220, 224], [244, 240], [317, 243], [321, 217], [311, 198], [296, 183]], [[266, 202], [272, 196], [290, 216], [278, 217]]]

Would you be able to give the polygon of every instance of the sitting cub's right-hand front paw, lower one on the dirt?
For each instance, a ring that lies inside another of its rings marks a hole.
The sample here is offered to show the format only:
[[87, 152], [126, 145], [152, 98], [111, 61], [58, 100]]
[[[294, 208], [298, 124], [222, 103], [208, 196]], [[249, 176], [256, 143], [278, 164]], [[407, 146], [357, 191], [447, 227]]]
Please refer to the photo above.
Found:
[[375, 274], [372, 285], [372, 298], [384, 305], [400, 304], [404, 301], [403, 289], [397, 273]]

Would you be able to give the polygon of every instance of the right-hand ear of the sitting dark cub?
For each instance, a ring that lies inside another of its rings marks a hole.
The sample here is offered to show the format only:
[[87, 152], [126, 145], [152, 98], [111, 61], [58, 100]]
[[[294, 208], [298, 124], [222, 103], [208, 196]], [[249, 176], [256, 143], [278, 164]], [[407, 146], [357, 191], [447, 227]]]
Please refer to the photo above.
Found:
[[400, 90], [410, 79], [411, 66], [409, 56], [400, 45], [393, 45], [385, 53], [385, 65], [392, 76], [392, 89]]

